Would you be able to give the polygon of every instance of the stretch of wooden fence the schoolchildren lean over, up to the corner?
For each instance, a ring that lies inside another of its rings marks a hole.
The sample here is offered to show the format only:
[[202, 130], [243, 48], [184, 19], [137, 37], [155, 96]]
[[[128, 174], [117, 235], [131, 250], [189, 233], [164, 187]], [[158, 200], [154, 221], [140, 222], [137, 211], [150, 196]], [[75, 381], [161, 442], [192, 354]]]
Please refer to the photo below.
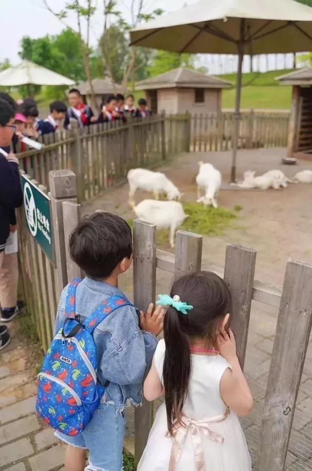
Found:
[[83, 202], [124, 179], [130, 168], [151, 167], [188, 151], [189, 120], [188, 115], [155, 115], [62, 130], [39, 138], [40, 151], [18, 154], [20, 167], [48, 190], [50, 170], [73, 170]]

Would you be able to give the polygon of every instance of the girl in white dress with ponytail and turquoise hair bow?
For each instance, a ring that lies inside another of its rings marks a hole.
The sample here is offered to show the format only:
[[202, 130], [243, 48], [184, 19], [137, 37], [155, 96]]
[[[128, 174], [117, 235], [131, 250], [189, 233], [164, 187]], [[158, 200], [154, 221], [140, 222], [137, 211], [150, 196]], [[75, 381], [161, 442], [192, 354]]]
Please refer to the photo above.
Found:
[[[240, 368], [233, 332], [226, 326], [231, 295], [214, 273], [177, 279], [167, 305], [164, 340], [156, 348], [144, 396], [165, 403], [138, 471], [249, 471], [251, 459], [237, 415], [253, 397]], [[215, 350], [216, 349], [216, 350]]]

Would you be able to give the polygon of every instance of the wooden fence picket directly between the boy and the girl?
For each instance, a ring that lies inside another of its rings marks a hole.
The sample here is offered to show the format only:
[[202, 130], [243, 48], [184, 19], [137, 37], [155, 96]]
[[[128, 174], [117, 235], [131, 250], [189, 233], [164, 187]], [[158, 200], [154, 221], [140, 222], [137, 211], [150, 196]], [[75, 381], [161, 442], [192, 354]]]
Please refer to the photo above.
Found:
[[[156, 225], [134, 221], [134, 303], [146, 311], [155, 302], [156, 292]], [[143, 402], [135, 411], [135, 461], [138, 463], [153, 422], [153, 403]]]

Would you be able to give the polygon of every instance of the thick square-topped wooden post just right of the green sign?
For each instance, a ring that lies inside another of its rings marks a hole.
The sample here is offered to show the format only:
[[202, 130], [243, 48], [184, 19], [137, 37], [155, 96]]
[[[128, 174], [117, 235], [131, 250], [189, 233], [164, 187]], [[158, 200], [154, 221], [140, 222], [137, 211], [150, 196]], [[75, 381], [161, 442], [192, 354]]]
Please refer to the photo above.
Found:
[[52, 170], [49, 172], [50, 198], [53, 221], [53, 237], [57, 265], [57, 297], [67, 284], [66, 250], [62, 202], [77, 202], [76, 175], [71, 170]]

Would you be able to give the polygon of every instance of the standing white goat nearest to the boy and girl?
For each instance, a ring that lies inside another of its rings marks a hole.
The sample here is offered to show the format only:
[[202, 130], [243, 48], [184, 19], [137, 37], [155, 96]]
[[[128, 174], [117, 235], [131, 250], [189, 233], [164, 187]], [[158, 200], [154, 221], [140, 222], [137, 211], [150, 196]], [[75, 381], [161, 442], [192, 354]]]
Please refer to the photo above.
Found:
[[187, 217], [181, 203], [177, 201], [144, 199], [137, 206], [134, 206], [133, 210], [139, 219], [156, 224], [157, 229], [170, 228], [170, 247], [175, 246], [176, 229]]

